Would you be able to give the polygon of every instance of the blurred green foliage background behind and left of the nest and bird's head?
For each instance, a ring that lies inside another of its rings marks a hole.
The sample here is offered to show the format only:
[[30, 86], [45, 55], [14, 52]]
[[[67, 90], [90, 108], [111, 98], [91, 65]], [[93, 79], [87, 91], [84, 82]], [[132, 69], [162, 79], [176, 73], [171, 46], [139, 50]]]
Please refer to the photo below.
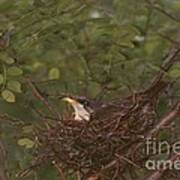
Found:
[[[111, 100], [144, 89], [180, 36], [179, 11], [179, 0], [0, 0], [0, 32], [11, 34], [0, 50], [0, 113], [15, 119], [0, 119], [10, 179], [36, 151], [33, 128], [42, 122], [35, 109], [47, 112], [25, 77], [59, 112], [61, 93]], [[180, 94], [180, 63], [166, 78], [176, 84], [162, 113]], [[26, 179], [56, 180], [57, 172], [49, 166]]]

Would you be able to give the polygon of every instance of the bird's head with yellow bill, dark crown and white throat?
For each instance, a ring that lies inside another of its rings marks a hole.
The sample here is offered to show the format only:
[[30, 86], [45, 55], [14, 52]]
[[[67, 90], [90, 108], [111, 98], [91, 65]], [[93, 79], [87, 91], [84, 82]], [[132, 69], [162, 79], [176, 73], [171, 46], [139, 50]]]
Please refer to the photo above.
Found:
[[76, 121], [89, 121], [91, 113], [93, 112], [91, 108], [90, 100], [86, 97], [81, 96], [66, 96], [62, 100], [68, 102], [74, 109], [74, 119]]

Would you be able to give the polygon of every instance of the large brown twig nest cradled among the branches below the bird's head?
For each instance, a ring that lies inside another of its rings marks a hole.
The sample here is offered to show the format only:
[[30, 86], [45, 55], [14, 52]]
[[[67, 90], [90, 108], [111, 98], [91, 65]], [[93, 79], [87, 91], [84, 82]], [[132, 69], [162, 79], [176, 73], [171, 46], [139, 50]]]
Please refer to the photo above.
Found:
[[118, 179], [147, 158], [139, 143], [156, 121], [154, 109], [152, 99], [139, 93], [97, 110], [89, 122], [54, 122], [37, 133], [33, 167], [51, 162], [63, 172], [79, 172], [81, 179]]

